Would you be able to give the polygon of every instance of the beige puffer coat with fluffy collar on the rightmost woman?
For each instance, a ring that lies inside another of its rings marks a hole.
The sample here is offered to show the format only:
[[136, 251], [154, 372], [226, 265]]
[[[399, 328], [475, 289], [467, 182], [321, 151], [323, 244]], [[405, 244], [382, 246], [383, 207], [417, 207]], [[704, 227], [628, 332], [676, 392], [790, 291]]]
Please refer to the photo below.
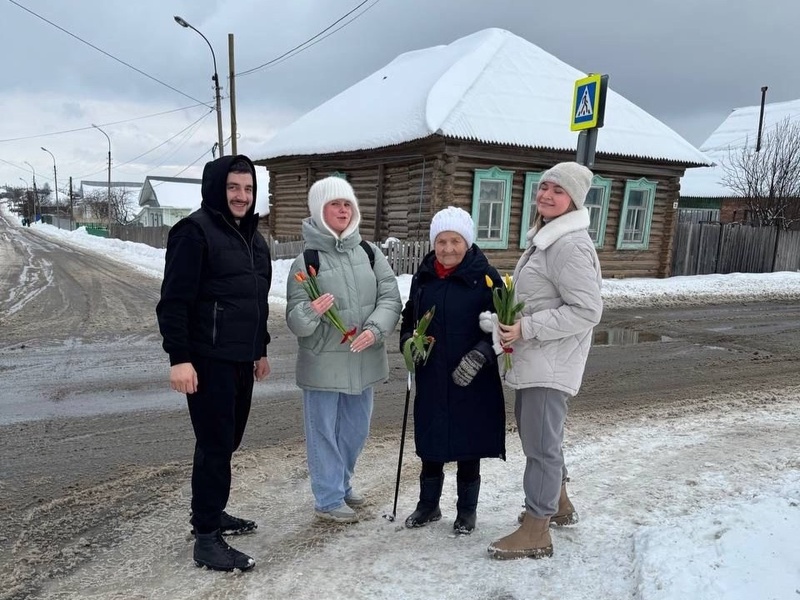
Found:
[[[514, 270], [522, 309], [522, 339], [513, 344], [505, 381], [515, 389], [548, 387], [575, 395], [603, 313], [602, 275], [587, 231], [586, 209], [568, 212], [528, 232]], [[502, 361], [501, 361], [502, 362]]]

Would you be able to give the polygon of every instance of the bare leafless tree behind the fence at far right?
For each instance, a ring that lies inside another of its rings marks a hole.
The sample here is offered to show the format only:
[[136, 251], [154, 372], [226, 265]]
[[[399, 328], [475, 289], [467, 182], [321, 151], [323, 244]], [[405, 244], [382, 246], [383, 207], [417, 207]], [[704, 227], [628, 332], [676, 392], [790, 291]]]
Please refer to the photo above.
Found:
[[760, 225], [788, 229], [800, 220], [800, 123], [784, 119], [755, 151], [746, 143], [728, 153], [722, 181], [747, 202]]

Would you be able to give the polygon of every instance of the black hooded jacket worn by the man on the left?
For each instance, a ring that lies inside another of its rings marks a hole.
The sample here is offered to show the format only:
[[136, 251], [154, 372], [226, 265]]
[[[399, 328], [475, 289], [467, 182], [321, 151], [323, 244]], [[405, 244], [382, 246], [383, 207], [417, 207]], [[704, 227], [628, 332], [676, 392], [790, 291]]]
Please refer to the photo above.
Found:
[[[237, 225], [228, 208], [231, 165], [253, 173], [253, 205]], [[200, 209], [169, 232], [158, 326], [170, 364], [193, 356], [247, 362], [267, 354], [269, 247], [258, 232], [255, 167], [246, 156], [206, 163]]]

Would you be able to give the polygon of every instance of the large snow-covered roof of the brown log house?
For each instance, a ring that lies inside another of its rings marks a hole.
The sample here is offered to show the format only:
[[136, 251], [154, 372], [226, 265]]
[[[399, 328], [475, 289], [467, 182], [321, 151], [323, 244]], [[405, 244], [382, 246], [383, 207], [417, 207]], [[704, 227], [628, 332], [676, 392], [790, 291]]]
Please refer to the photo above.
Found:
[[[502, 29], [402, 54], [279, 131], [259, 159], [366, 150], [440, 134], [574, 150], [575, 80], [585, 74]], [[613, 90], [597, 151], [708, 165], [697, 148]]]

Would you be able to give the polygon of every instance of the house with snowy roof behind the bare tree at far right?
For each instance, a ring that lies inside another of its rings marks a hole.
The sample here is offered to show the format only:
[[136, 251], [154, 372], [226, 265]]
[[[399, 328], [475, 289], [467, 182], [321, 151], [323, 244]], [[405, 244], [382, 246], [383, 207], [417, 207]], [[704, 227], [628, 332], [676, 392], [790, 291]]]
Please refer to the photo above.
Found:
[[[748, 223], [751, 215], [746, 198], [725, 184], [725, 166], [732, 156], [755, 148], [761, 106], [737, 108], [708, 136], [700, 150], [714, 166], [692, 169], [681, 179], [680, 211], [685, 220]], [[786, 119], [800, 118], [800, 100], [764, 105], [763, 137]]]

